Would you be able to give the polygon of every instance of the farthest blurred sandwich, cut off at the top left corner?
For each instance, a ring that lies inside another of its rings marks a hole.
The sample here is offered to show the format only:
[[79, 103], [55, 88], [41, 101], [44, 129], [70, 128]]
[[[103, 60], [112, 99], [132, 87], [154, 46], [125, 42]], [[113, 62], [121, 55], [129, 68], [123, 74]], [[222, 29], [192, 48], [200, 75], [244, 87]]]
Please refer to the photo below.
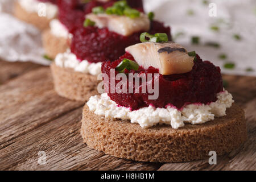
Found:
[[57, 0], [17, 0], [14, 3], [14, 16], [40, 30], [49, 28], [49, 22], [57, 13]]

